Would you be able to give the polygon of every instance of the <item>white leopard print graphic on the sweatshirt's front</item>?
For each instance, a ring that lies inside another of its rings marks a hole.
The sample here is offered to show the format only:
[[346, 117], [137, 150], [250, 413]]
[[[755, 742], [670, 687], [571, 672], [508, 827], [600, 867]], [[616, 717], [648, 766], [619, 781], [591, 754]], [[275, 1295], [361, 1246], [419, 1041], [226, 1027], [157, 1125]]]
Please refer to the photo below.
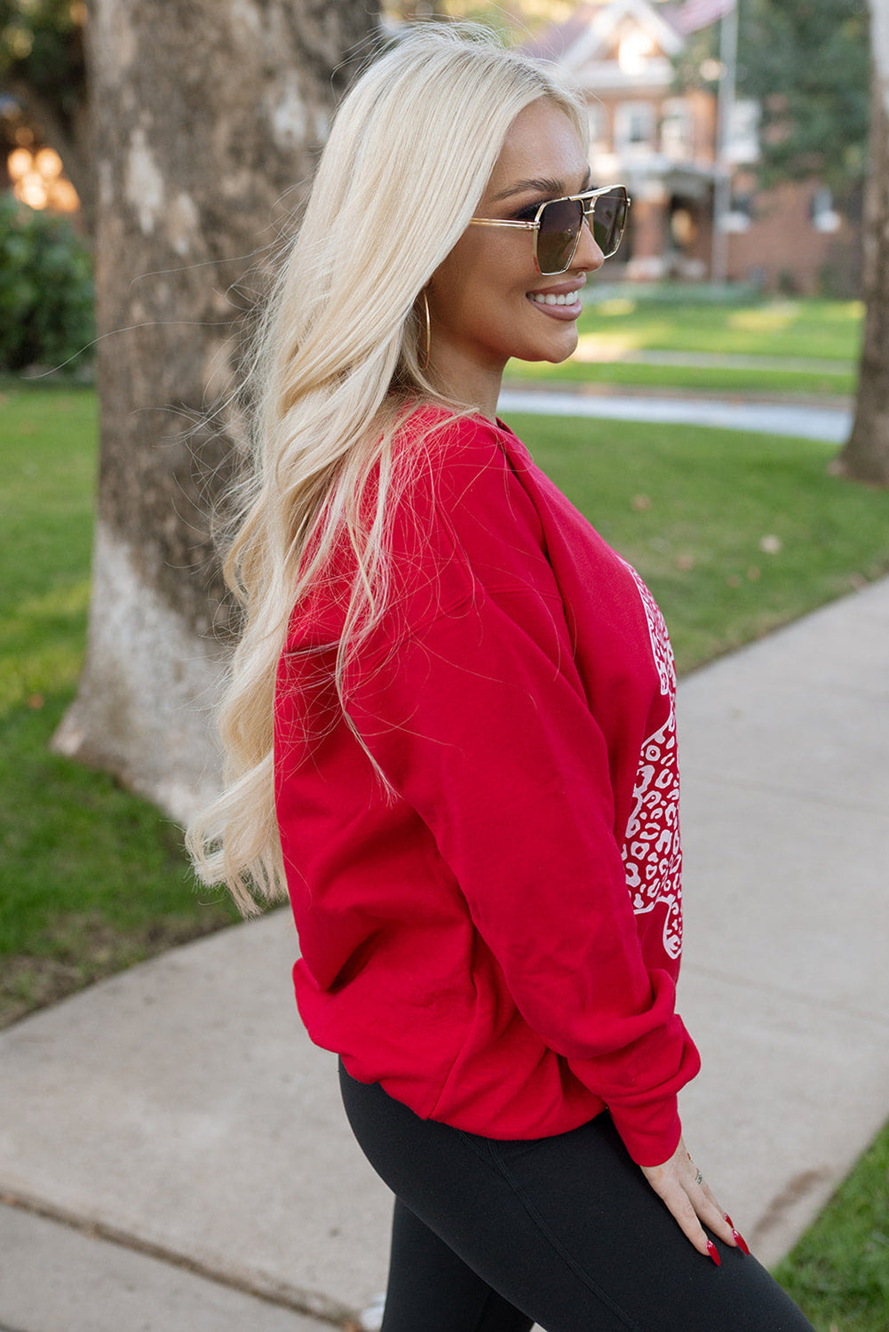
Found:
[[658, 902], [665, 904], [664, 950], [669, 958], [678, 958], [682, 948], [682, 851], [676, 755], [676, 665], [666, 625], [654, 598], [636, 570], [630, 565], [626, 567], [642, 599], [661, 694], [669, 698], [669, 717], [642, 745], [633, 810], [624, 839], [624, 867], [636, 915], [653, 911]]

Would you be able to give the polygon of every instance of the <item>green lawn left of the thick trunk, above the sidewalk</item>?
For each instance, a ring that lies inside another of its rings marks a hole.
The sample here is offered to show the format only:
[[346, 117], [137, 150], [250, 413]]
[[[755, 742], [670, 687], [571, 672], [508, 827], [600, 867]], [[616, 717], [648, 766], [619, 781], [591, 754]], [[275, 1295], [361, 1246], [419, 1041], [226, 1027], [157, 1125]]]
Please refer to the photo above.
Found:
[[235, 919], [179, 830], [49, 754], [84, 649], [96, 398], [0, 386], [0, 1024]]

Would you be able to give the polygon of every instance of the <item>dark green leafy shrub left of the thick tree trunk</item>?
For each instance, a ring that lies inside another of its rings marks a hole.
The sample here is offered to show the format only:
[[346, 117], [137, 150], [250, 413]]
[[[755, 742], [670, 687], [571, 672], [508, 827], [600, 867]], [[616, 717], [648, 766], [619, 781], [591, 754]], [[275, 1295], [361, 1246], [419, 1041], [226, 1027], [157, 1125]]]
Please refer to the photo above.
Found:
[[92, 262], [67, 218], [0, 196], [0, 368], [60, 366], [91, 350]]

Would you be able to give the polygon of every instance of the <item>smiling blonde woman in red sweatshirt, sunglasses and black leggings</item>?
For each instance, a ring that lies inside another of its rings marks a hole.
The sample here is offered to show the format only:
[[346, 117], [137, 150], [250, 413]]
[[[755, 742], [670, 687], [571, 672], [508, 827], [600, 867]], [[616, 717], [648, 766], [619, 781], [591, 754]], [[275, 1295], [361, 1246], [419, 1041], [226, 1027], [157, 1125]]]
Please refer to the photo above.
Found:
[[412, 31], [345, 99], [259, 358], [191, 847], [245, 911], [289, 887], [300, 1012], [396, 1193], [385, 1332], [790, 1332], [681, 1136], [664, 623], [496, 418], [620, 241], [585, 143], [477, 33]]

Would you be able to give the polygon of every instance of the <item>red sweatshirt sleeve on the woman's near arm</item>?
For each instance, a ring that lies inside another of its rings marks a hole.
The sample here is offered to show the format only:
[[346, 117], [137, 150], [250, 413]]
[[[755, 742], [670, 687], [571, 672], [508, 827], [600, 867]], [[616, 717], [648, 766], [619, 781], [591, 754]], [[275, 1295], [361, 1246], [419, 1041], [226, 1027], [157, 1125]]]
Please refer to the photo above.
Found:
[[[502, 456], [461, 461], [424, 530], [419, 598], [351, 667], [349, 715], [435, 836], [524, 1019], [602, 1098], [633, 1159], [660, 1164], [697, 1051], [670, 975], [642, 956], [608, 746], [529, 501]], [[448, 570], [432, 599], [431, 567]]]

